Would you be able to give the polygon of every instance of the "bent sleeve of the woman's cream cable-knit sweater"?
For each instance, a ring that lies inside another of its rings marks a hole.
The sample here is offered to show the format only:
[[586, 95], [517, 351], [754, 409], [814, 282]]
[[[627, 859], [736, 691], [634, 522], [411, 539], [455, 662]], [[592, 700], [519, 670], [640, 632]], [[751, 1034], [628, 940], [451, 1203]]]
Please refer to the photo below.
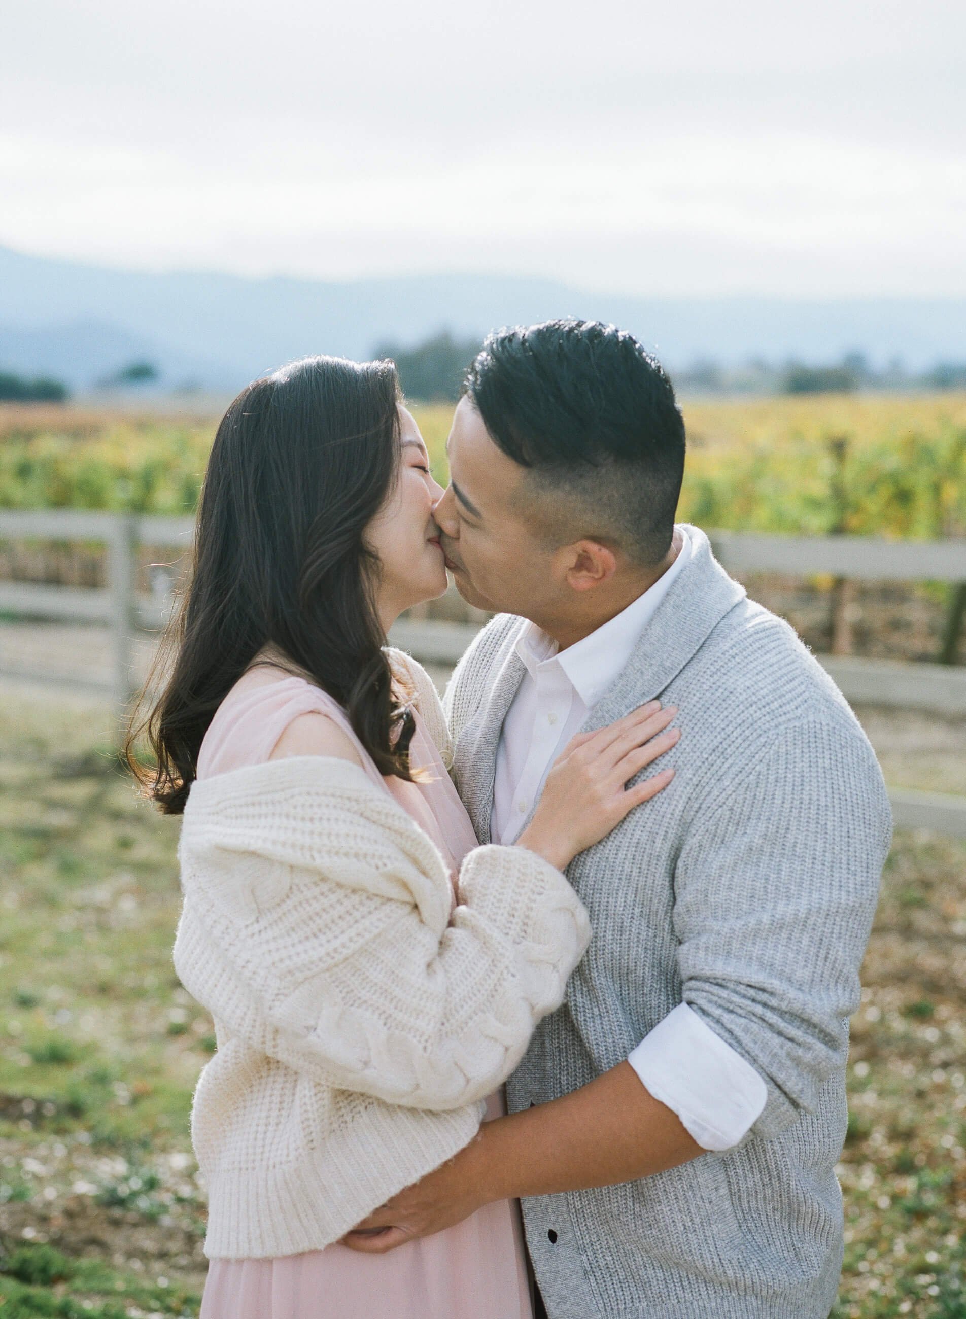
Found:
[[458, 1108], [505, 1080], [560, 1005], [587, 915], [533, 852], [480, 847], [450, 917], [432, 842], [352, 770], [325, 793], [293, 781], [284, 843], [245, 824], [249, 802], [222, 802], [207, 830], [186, 813], [174, 966], [231, 1033], [297, 1071]]

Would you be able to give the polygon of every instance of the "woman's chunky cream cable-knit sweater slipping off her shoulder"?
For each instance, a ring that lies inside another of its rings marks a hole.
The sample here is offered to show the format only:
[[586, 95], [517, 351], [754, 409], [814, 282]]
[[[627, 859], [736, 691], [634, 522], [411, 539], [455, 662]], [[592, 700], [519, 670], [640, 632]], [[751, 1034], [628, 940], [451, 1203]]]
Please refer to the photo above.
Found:
[[174, 966], [218, 1038], [191, 1109], [209, 1257], [329, 1245], [451, 1158], [590, 939], [519, 847], [470, 852], [451, 913], [428, 835], [331, 757], [195, 782], [179, 860]]

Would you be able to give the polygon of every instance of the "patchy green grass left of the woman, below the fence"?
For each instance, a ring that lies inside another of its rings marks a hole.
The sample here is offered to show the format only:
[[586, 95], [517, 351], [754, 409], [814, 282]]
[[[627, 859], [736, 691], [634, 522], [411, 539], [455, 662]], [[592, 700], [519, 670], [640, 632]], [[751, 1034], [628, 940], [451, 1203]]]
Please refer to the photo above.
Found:
[[0, 1315], [195, 1315], [203, 1285], [187, 1122], [214, 1038], [170, 962], [177, 824], [103, 724], [0, 711]]

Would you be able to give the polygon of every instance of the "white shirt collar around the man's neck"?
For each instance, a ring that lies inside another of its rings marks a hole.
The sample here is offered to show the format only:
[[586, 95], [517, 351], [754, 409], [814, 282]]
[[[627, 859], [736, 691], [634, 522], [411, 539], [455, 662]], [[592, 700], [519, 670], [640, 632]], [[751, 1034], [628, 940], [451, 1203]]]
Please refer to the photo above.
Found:
[[574, 642], [573, 646], [558, 652], [557, 642], [536, 623], [524, 628], [517, 638], [516, 650], [534, 681], [540, 667], [558, 665], [587, 710], [598, 703], [622, 670], [627, 667], [644, 628], [657, 612], [657, 607], [670, 590], [672, 582], [690, 557], [692, 541], [682, 528], [677, 528], [677, 530], [681, 532], [682, 545], [666, 572], [643, 595], [632, 600], [626, 609], [608, 619], [595, 632]]

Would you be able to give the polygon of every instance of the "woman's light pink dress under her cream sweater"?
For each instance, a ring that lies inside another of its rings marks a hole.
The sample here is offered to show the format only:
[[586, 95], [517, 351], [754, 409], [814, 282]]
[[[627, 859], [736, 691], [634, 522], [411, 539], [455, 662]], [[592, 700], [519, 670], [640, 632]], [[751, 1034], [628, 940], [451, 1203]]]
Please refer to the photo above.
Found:
[[[418, 715], [413, 765], [432, 782], [383, 778], [342, 707], [302, 678], [251, 670], [218, 707], [198, 754], [198, 778], [267, 761], [298, 715], [329, 715], [356, 744], [367, 773], [430, 835], [455, 874], [476, 836]], [[505, 1113], [503, 1089], [484, 1121]], [[211, 1260], [201, 1319], [533, 1319], [520, 1206], [487, 1204], [435, 1236], [387, 1254], [335, 1242], [260, 1260]]]

